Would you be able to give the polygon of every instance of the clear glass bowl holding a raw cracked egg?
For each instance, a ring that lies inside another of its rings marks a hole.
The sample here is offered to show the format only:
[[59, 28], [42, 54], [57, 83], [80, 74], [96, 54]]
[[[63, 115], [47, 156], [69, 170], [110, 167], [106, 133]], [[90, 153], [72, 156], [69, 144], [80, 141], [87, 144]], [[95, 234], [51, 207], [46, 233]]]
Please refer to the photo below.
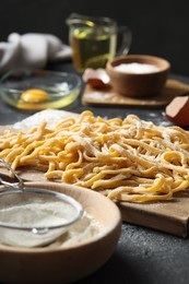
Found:
[[74, 73], [20, 69], [1, 78], [0, 97], [21, 109], [62, 108], [76, 99], [81, 85]]

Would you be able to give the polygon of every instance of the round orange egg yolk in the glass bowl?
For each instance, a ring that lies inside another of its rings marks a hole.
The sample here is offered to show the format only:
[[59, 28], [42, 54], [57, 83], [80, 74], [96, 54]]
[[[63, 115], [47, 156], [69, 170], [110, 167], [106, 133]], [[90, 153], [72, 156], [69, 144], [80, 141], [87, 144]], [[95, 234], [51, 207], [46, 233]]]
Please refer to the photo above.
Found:
[[39, 103], [48, 98], [48, 93], [39, 88], [29, 88], [21, 94], [21, 99], [26, 103]]

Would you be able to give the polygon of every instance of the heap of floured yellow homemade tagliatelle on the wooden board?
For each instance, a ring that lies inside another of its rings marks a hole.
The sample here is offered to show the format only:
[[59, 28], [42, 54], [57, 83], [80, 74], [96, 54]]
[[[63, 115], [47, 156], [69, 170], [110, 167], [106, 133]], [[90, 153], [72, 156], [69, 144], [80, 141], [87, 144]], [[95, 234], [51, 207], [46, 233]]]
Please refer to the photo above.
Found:
[[54, 129], [43, 122], [0, 135], [0, 158], [32, 166], [47, 179], [103, 192], [111, 200], [167, 200], [189, 186], [189, 133], [134, 115], [104, 119], [84, 111]]

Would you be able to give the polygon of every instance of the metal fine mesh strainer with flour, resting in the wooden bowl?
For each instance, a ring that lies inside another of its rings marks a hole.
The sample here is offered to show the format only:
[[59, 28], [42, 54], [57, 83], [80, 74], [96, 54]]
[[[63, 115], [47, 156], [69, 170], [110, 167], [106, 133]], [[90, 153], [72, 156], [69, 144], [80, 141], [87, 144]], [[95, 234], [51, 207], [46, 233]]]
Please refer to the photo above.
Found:
[[0, 178], [0, 242], [17, 247], [38, 247], [52, 242], [83, 215], [82, 205], [73, 198], [47, 189], [25, 186]]

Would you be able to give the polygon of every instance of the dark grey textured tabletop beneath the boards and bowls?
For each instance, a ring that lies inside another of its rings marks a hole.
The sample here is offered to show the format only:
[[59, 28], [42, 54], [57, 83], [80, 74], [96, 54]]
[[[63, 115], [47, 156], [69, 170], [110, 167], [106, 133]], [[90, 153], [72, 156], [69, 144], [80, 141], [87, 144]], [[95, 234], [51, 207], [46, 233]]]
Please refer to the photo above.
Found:
[[[56, 71], [74, 72], [70, 62], [47, 67]], [[172, 75], [189, 83], [188, 78]], [[64, 108], [81, 113], [91, 109], [95, 115], [125, 117], [135, 114], [141, 119], [156, 125], [169, 125], [164, 118], [164, 109], [138, 109], [119, 107], [85, 107], [81, 97]], [[10, 125], [33, 113], [14, 109], [0, 102], [0, 125]], [[91, 256], [93, 261], [93, 256]], [[79, 260], [80, 261], [80, 260]], [[110, 259], [94, 274], [78, 283], [128, 283], [128, 284], [188, 284], [189, 283], [189, 239], [123, 223], [117, 248]]]

